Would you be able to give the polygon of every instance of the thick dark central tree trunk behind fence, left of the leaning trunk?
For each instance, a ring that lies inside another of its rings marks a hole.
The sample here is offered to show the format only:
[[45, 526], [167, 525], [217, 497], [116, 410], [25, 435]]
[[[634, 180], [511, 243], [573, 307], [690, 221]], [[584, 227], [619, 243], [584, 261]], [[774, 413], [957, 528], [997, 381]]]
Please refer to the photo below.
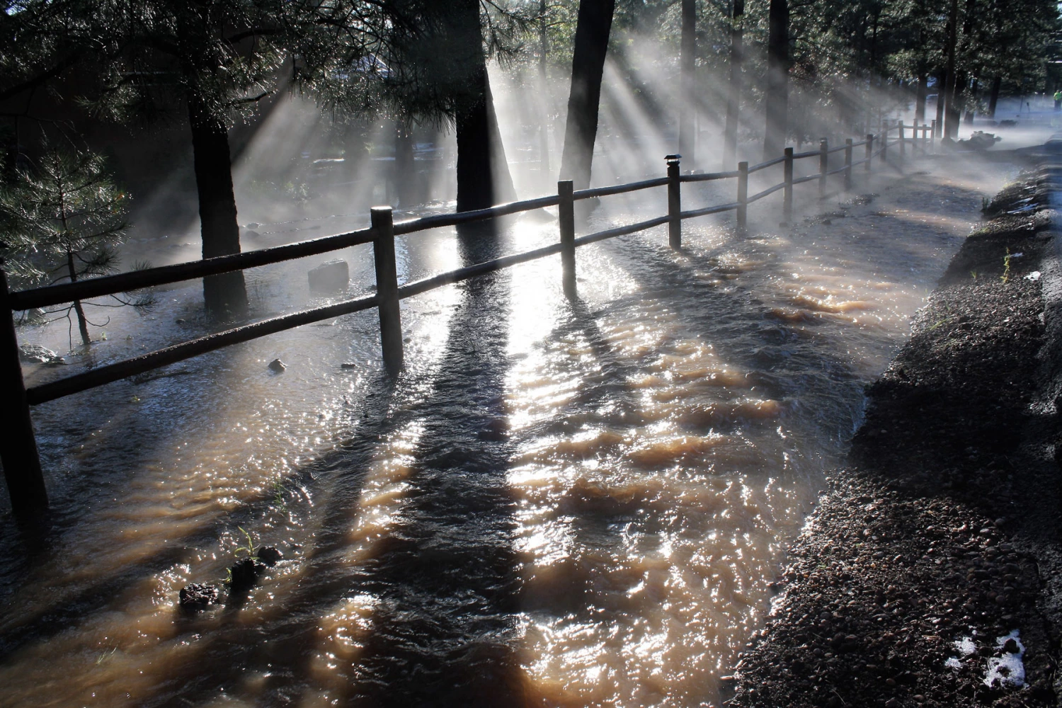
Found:
[[467, 93], [455, 111], [458, 141], [458, 211], [484, 209], [515, 198], [501, 132], [494, 113], [494, 98], [486, 74], [479, 0], [463, 0], [457, 30], [466, 42], [462, 71], [468, 76]]

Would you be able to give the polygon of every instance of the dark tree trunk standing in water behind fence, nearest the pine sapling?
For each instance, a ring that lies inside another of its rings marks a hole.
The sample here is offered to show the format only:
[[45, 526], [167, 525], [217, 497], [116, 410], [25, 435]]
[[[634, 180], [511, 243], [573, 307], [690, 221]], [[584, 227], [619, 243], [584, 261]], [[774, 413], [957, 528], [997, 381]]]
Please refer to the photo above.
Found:
[[[188, 93], [188, 122], [192, 129], [203, 258], [238, 254], [240, 225], [236, 221], [228, 131], [194, 91]], [[245, 315], [247, 291], [243, 271], [203, 278], [203, 300], [207, 312], [213, 316]]]

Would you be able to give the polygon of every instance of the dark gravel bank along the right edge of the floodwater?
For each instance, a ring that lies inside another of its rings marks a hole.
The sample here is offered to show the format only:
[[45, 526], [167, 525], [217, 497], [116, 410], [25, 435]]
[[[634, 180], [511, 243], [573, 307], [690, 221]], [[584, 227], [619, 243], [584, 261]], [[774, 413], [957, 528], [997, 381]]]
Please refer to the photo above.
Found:
[[869, 387], [725, 705], [1060, 704], [1059, 172], [995, 196]]

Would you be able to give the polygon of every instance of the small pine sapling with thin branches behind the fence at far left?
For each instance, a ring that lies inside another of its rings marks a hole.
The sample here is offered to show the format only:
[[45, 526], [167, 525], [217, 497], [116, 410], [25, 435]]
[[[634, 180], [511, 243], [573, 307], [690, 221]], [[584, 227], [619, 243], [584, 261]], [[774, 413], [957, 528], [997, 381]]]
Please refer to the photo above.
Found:
[[[14, 180], [0, 190], [2, 241], [12, 278], [22, 287], [33, 287], [114, 273], [129, 201], [129, 194], [110, 178], [103, 157], [89, 152], [50, 150], [35, 169], [16, 171]], [[135, 267], [150, 267], [150, 263]], [[88, 346], [88, 325], [107, 323], [91, 322], [85, 315], [86, 305], [142, 310], [154, 304], [150, 291], [110, 297], [115, 301], [74, 300], [48, 314], [70, 323], [72, 347], [73, 313], [82, 343]]]

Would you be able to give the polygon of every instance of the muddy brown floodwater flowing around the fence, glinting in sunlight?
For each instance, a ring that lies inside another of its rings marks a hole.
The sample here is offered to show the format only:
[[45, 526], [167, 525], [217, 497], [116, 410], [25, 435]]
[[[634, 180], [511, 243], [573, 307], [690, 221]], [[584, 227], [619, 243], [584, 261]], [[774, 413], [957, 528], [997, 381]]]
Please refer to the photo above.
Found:
[[[793, 228], [757, 205], [742, 236], [686, 222], [681, 253], [660, 228], [581, 248], [575, 299], [553, 257], [406, 300], [394, 383], [372, 311], [38, 407], [53, 518], [0, 521], [0, 705], [718, 706], [862, 386], [1008, 176], [915, 169]], [[587, 231], [664, 204], [607, 197]], [[399, 278], [555, 238], [407, 237]], [[363, 291], [371, 251], [341, 256]], [[320, 301], [311, 260], [249, 274], [257, 313]], [[207, 330], [198, 283], [158, 295], [28, 378]], [[66, 350], [61, 324], [23, 341]], [[284, 560], [179, 611], [244, 532]]]

